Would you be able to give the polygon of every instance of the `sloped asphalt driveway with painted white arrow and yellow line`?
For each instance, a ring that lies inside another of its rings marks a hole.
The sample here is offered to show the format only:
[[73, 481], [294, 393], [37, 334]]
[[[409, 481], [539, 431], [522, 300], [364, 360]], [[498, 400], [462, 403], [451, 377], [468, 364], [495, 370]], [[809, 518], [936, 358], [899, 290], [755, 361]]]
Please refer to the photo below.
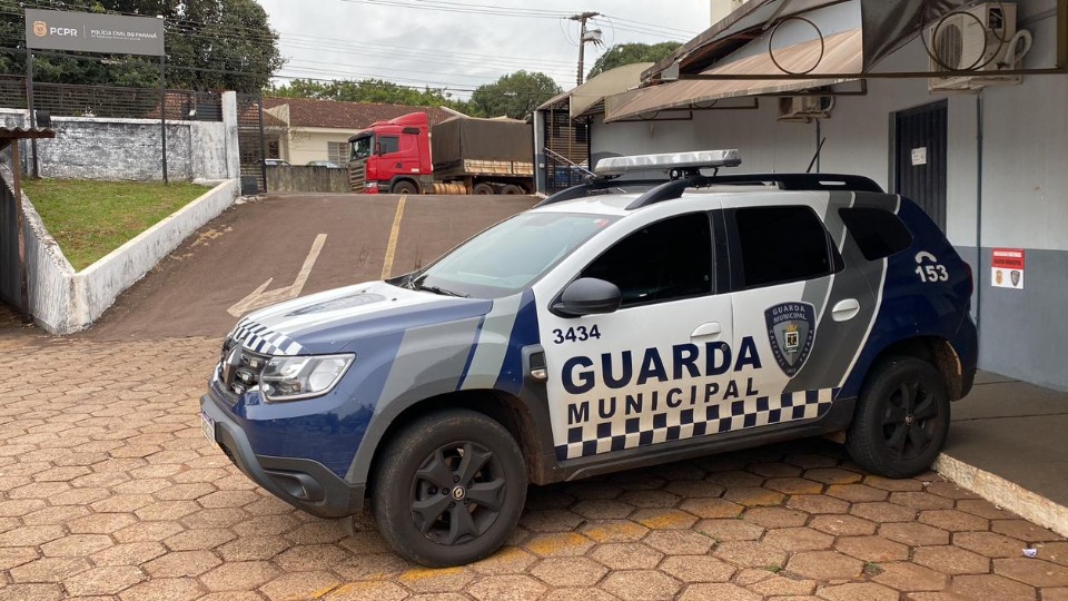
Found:
[[190, 236], [83, 336], [222, 336], [257, 306], [422, 267], [535, 203], [327, 194], [253, 200]]

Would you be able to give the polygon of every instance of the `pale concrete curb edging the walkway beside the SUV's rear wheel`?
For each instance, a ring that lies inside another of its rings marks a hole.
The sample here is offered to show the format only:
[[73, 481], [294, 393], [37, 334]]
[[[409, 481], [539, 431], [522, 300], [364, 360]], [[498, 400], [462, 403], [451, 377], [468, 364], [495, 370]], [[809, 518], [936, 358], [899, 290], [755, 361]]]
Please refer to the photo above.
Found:
[[933, 467], [946, 479], [968, 489], [995, 505], [1007, 509], [1061, 536], [1068, 536], [1068, 508], [945, 453], [934, 460]]

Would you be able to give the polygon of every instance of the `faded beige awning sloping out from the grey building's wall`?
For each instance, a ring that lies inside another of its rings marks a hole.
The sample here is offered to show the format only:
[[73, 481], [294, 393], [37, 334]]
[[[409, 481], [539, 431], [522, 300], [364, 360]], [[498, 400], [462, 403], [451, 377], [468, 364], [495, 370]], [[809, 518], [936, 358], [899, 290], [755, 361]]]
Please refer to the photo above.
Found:
[[[822, 50], [822, 59], [820, 58]], [[778, 62], [778, 66], [775, 65]], [[815, 66], [814, 69], [812, 67]], [[852, 79], [827, 79], [820, 73], [852, 73], [863, 66], [861, 29], [843, 31], [820, 40], [810, 40], [714, 67], [703, 75], [721, 77], [811, 71], [811, 79], [722, 79], [680, 80], [645, 88], [625, 97], [613, 97], [605, 104], [605, 121], [645, 116], [652, 112], [708, 108], [723, 98], [759, 96], [832, 86]], [[704, 105], [703, 107], [701, 105]]]

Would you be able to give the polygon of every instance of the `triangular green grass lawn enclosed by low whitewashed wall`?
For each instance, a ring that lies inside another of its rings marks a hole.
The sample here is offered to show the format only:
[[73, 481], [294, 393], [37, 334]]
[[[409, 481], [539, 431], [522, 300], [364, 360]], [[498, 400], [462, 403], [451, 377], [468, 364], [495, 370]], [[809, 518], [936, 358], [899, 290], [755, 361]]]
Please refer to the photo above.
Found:
[[210, 189], [73, 179], [23, 179], [22, 188], [78, 272]]

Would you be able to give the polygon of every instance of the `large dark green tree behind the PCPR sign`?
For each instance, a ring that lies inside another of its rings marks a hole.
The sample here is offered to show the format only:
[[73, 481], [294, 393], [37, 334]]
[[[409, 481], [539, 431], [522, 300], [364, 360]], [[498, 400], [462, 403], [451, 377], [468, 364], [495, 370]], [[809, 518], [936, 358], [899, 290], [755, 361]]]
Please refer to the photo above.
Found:
[[[0, 0], [0, 72], [24, 72], [22, 7], [77, 12], [162, 16], [166, 28], [167, 86], [180, 89], [229, 89], [256, 92], [285, 63], [278, 33], [256, 0]], [[62, 55], [62, 56], [59, 56]], [[127, 55], [60, 52], [36, 56], [38, 81], [155, 87], [159, 59]]]

